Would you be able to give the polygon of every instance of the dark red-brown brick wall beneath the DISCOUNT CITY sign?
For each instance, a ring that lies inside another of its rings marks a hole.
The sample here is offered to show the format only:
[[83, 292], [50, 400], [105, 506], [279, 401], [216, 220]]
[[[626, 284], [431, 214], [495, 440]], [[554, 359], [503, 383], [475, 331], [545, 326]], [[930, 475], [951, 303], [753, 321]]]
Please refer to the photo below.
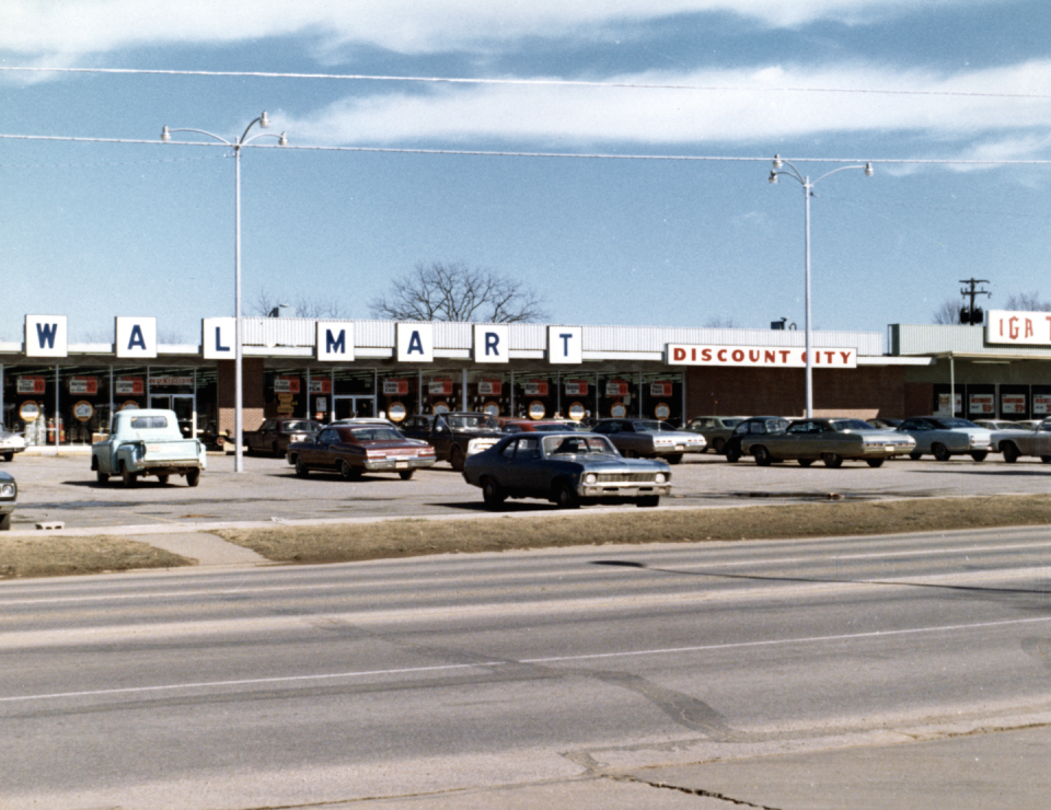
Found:
[[[686, 369], [688, 417], [804, 416], [806, 385], [805, 369], [691, 367]], [[815, 416], [900, 419], [904, 412], [904, 374], [900, 368], [813, 370]]]

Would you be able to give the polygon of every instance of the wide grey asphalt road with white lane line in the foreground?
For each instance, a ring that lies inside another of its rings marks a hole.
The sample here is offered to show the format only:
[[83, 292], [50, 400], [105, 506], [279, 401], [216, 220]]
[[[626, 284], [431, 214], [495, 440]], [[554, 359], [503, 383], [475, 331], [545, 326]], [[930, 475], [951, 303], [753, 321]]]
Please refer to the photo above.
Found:
[[[0, 806], [728, 807], [628, 791], [1051, 722], [1049, 553], [1027, 529], [3, 582]], [[945, 806], [1038, 790], [958, 765], [929, 773]], [[828, 806], [795, 776], [796, 803], [729, 798]]]

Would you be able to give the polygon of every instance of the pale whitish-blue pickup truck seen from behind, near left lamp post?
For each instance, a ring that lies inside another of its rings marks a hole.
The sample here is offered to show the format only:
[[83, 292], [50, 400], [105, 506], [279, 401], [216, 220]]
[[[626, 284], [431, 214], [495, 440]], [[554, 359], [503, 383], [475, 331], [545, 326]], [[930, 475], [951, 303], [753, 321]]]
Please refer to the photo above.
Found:
[[183, 475], [195, 487], [207, 465], [205, 445], [183, 438], [173, 410], [122, 410], [113, 417], [109, 437], [91, 445], [91, 468], [100, 484], [111, 475], [119, 475], [126, 487], [140, 475], [155, 475], [161, 484]]

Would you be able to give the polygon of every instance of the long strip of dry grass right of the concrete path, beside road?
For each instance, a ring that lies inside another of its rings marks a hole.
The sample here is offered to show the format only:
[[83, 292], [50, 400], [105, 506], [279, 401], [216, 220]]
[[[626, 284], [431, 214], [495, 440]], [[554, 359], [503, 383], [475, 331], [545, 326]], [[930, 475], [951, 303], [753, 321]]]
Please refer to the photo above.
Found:
[[1051, 496], [1023, 495], [725, 509], [628, 508], [615, 514], [392, 520], [215, 533], [274, 562], [316, 564], [607, 543], [828, 537], [1044, 524], [1051, 524]]

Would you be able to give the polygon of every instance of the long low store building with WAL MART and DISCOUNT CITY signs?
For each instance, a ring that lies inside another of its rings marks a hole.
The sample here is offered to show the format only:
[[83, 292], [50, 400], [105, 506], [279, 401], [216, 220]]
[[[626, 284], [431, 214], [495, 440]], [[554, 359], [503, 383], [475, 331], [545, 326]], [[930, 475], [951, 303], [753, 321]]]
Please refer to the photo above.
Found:
[[[1039, 314], [993, 312], [984, 328], [892, 325], [886, 347], [880, 333], [815, 332], [815, 413], [947, 412], [955, 391], [962, 416], [1051, 415], [1051, 321], [1041, 327]], [[1019, 316], [1030, 319], [1028, 327]], [[797, 331], [242, 323], [245, 429], [286, 414], [399, 421], [486, 409], [680, 423], [805, 412], [805, 336]], [[187, 435], [232, 433], [234, 319], [205, 319], [200, 342], [190, 345], [159, 345], [155, 317], [117, 317], [112, 344], [70, 344], [68, 326], [66, 316], [26, 315], [23, 340], [0, 343], [0, 414], [9, 429], [34, 444], [85, 444], [117, 409], [164, 407]]]

